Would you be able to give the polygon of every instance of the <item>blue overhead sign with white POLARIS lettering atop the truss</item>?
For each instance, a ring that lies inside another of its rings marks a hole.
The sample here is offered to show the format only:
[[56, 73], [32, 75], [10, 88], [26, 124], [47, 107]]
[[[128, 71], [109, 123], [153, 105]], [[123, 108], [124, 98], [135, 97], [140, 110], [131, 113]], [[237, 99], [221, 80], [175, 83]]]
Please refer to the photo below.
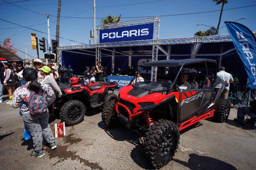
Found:
[[152, 40], [154, 23], [100, 30], [100, 43]]

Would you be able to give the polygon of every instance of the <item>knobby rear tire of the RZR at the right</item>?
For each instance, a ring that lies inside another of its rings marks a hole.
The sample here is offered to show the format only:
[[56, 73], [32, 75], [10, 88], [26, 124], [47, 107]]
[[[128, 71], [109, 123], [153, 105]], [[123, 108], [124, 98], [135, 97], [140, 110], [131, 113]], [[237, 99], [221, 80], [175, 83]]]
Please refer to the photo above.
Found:
[[217, 122], [226, 122], [230, 112], [230, 100], [219, 99], [215, 107], [213, 118]]

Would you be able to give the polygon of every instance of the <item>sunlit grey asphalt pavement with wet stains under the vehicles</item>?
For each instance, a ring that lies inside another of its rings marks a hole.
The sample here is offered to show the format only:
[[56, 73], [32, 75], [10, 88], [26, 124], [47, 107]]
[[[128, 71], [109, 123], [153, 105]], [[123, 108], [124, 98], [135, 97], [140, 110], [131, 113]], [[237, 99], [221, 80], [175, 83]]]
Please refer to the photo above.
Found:
[[[6, 98], [6, 97], [5, 97]], [[255, 169], [256, 133], [252, 126], [212, 118], [182, 130], [173, 160], [162, 169]], [[108, 129], [98, 110], [66, 127], [51, 151], [44, 141], [43, 158], [32, 158], [32, 141], [24, 141], [19, 109], [0, 103], [0, 169], [153, 169], [143, 157], [140, 136], [124, 127]], [[50, 123], [53, 130], [56, 119]]]

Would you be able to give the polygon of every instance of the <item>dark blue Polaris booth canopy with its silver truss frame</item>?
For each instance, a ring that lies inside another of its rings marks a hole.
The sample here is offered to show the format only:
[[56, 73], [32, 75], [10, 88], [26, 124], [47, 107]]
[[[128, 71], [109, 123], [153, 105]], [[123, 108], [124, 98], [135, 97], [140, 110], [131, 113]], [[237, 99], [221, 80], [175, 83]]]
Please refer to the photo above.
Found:
[[[58, 47], [58, 63], [78, 65], [79, 68], [76, 67], [77, 70], [74, 69], [74, 73], [81, 74], [86, 66], [95, 65], [97, 60], [101, 60], [103, 66], [110, 66], [111, 62], [111, 68], [108, 67], [108, 69], [112, 72], [117, 72], [117, 67], [125, 72], [128, 66], [136, 68], [150, 61], [205, 58], [216, 60], [217, 66], [225, 66], [227, 71], [231, 69], [235, 75], [241, 75], [240, 79], [245, 79], [246, 82], [246, 78], [243, 76], [246, 73], [241, 67], [242, 62], [237, 57], [229, 35], [158, 39], [159, 22], [159, 17], [152, 17], [97, 26], [96, 44]], [[124, 28], [129, 25], [141, 25], [141, 23], [154, 23], [152, 39], [99, 43], [100, 30]], [[231, 61], [234, 61], [232, 66], [229, 64]], [[150, 71], [151, 80], [156, 79], [157, 68], [153, 66]]]

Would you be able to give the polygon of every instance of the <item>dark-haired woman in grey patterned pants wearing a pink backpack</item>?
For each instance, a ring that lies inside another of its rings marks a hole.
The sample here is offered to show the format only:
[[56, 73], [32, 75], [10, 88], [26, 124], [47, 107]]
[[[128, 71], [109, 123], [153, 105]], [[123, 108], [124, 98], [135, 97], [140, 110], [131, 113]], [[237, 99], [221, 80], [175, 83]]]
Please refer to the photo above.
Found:
[[26, 68], [22, 75], [27, 83], [14, 91], [10, 105], [13, 108], [20, 107], [22, 119], [32, 136], [34, 151], [30, 156], [41, 158], [44, 156], [43, 136], [52, 150], [57, 147], [48, 124], [47, 101], [51, 100], [52, 95], [47, 85], [36, 80], [35, 69]]

